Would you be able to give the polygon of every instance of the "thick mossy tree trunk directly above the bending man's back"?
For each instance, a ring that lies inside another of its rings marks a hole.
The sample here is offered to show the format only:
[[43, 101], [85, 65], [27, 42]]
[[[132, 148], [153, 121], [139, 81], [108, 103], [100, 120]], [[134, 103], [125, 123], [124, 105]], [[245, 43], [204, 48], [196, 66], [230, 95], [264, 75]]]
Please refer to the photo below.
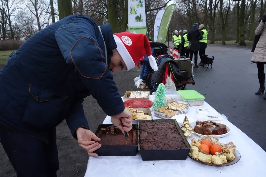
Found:
[[57, 0], [57, 3], [59, 11], [59, 20], [73, 14], [71, 0]]

